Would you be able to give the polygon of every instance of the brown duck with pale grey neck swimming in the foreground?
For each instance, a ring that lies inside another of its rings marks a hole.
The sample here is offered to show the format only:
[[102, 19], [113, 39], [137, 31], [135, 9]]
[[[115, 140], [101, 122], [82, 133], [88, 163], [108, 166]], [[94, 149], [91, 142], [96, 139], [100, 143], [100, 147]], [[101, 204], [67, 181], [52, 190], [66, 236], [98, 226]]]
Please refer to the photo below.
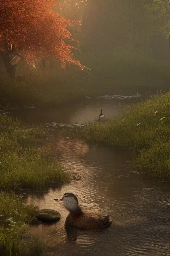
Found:
[[103, 229], [111, 225], [109, 215], [105, 216], [98, 212], [82, 209], [78, 204], [78, 199], [73, 193], [65, 193], [61, 199], [55, 201], [63, 201], [64, 207], [69, 211], [66, 217], [66, 225], [78, 229]]

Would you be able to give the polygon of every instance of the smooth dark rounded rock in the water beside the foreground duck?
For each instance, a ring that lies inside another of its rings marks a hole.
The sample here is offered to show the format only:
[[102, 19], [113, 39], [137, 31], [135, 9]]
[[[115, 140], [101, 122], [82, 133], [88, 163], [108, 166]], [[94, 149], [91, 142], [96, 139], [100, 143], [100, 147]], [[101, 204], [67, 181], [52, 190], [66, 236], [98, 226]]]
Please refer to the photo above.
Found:
[[58, 221], [61, 217], [61, 214], [57, 211], [51, 209], [43, 209], [39, 211], [37, 219], [43, 222], [53, 222]]

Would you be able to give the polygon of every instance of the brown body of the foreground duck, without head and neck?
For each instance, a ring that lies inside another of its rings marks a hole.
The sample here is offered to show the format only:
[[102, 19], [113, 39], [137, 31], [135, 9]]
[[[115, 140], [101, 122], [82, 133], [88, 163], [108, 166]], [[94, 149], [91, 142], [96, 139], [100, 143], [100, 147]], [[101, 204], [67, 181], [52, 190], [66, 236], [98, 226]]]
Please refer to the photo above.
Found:
[[110, 221], [109, 216], [83, 209], [80, 214], [69, 213], [65, 223], [79, 229], [103, 229], [109, 226], [112, 221]]

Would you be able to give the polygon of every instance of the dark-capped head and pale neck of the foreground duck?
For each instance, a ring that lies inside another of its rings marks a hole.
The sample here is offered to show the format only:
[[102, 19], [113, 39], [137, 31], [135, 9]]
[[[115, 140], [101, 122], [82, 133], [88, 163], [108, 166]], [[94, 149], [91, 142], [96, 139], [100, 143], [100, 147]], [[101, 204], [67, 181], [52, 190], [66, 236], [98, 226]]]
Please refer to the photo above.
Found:
[[79, 212], [81, 208], [78, 206], [78, 199], [73, 193], [65, 193], [61, 199], [55, 199], [55, 201], [63, 201], [64, 207], [69, 212]]

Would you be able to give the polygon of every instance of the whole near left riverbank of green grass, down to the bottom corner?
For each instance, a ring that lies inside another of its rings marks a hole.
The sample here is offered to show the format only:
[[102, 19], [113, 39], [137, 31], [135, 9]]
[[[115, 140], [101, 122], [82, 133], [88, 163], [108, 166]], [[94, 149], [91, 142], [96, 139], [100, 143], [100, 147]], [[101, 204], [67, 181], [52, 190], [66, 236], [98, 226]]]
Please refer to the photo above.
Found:
[[43, 126], [27, 128], [18, 120], [0, 116], [0, 131], [0, 254], [38, 256], [42, 240], [37, 235], [23, 239], [38, 208], [24, 204], [22, 196], [10, 191], [22, 194], [28, 188], [45, 189], [51, 181], [52, 186], [68, 182], [70, 175], [44, 145], [47, 133]]

